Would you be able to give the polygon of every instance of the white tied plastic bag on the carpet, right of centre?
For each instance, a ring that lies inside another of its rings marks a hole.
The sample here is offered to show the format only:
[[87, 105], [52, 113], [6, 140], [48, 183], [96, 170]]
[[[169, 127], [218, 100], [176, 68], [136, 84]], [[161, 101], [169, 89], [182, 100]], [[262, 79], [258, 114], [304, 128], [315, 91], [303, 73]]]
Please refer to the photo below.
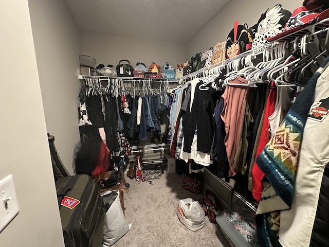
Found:
[[199, 202], [192, 198], [179, 200], [177, 216], [180, 222], [191, 231], [198, 231], [205, 226], [205, 211]]

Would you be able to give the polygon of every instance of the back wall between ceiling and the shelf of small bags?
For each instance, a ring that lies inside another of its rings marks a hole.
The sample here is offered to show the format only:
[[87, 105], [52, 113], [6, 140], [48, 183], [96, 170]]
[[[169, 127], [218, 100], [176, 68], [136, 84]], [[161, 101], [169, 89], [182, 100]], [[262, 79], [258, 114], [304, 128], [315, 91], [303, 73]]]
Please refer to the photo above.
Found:
[[95, 57], [105, 66], [116, 67], [121, 59], [129, 60], [133, 67], [137, 62], [147, 67], [152, 62], [176, 66], [185, 60], [185, 44], [180, 42], [85, 30], [80, 32], [80, 40], [82, 54]]

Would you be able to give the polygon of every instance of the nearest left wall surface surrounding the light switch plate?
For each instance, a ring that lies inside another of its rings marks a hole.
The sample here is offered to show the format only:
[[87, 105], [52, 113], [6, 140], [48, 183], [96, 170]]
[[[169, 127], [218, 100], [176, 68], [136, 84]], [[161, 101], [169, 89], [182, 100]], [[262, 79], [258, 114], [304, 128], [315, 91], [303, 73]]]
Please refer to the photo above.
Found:
[[13, 175], [20, 207], [0, 245], [64, 246], [27, 0], [1, 1], [0, 12], [0, 180]]

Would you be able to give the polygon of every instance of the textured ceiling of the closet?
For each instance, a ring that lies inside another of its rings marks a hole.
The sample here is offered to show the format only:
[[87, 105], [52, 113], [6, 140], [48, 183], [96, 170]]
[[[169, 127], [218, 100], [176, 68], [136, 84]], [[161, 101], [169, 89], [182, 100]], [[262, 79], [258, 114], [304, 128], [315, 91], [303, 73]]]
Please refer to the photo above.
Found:
[[190, 40], [229, 1], [64, 0], [80, 29], [179, 42]]

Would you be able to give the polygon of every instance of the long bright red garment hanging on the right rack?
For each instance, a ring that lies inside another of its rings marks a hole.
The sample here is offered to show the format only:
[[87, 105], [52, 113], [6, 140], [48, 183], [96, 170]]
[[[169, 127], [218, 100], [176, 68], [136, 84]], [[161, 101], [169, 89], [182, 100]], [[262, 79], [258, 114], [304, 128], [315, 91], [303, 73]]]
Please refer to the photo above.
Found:
[[[274, 83], [272, 83], [272, 86], [273, 85]], [[271, 89], [268, 94], [265, 109], [264, 109], [262, 132], [259, 138], [259, 144], [257, 147], [255, 157], [257, 157], [262, 152], [262, 150], [265, 148], [266, 144], [269, 142], [271, 138], [270, 134], [268, 133], [268, 130], [270, 128], [268, 117], [272, 115], [275, 110], [276, 100], [277, 100], [277, 89]], [[253, 163], [251, 172], [252, 172], [252, 196], [255, 200], [260, 201], [263, 192], [262, 180], [264, 178], [264, 173], [261, 171], [261, 169], [259, 169], [256, 163], [256, 159], [255, 162]]]

